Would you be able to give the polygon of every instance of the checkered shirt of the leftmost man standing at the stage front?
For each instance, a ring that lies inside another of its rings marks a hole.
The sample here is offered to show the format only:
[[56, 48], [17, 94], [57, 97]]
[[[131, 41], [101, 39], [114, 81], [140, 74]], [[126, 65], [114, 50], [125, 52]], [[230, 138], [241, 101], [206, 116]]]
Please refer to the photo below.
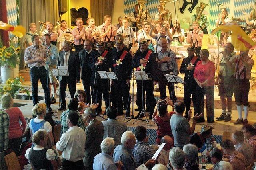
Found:
[[[38, 48], [36, 48], [34, 45], [31, 45], [30, 47], [26, 48], [24, 60], [28, 61], [31, 59], [36, 59], [38, 57], [44, 57], [46, 58], [46, 47], [43, 45], [39, 45]], [[34, 61], [33, 63], [28, 64], [28, 66], [31, 67], [42, 67], [45, 65], [44, 61]]]

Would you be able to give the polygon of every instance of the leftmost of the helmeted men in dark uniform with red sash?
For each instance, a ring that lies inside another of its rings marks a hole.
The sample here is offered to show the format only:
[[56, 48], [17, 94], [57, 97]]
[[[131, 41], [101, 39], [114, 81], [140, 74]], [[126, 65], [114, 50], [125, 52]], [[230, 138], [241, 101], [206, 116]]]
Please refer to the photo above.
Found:
[[[101, 99], [103, 94], [103, 99], [105, 101], [106, 109], [109, 106], [110, 100], [108, 99], [108, 80], [101, 79], [98, 71], [109, 72], [111, 63], [111, 52], [105, 49], [105, 43], [99, 41], [97, 43], [97, 51], [94, 55], [89, 58], [88, 66], [92, 69], [91, 76], [91, 87], [92, 87], [92, 103], [98, 103], [99, 107], [96, 109], [97, 114], [101, 113]], [[106, 111], [105, 109], [105, 111]]]

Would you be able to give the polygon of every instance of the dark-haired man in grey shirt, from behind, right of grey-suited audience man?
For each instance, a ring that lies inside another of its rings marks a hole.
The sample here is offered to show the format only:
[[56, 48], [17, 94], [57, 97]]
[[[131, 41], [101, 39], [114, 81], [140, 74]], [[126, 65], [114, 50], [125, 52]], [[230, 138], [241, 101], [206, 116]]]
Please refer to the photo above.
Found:
[[121, 144], [122, 134], [127, 131], [126, 123], [122, 120], [117, 119], [117, 109], [114, 106], [108, 107], [106, 110], [108, 120], [102, 121], [104, 126], [104, 136], [112, 137], [115, 141], [115, 147]]

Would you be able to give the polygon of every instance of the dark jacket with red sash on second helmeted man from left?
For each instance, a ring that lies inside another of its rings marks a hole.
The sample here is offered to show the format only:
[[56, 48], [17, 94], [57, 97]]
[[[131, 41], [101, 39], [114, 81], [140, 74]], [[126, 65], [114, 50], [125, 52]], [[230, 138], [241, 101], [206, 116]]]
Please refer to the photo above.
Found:
[[[116, 61], [121, 61], [117, 63]], [[118, 80], [127, 80], [130, 79], [130, 73], [132, 69], [132, 55], [125, 51], [115, 51], [112, 53], [112, 64], [111, 72], [114, 72]]]

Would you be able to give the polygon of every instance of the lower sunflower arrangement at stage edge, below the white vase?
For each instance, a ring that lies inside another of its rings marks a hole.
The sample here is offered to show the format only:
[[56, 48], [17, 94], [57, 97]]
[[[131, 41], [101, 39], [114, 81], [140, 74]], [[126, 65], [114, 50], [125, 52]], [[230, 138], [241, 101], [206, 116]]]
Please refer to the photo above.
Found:
[[24, 77], [21, 74], [19, 74], [15, 78], [9, 78], [6, 81], [6, 84], [0, 86], [0, 96], [8, 92], [11, 94], [12, 98], [14, 98], [16, 94], [19, 93], [19, 90], [26, 92], [26, 94], [30, 96], [28, 90], [22, 86], [23, 82], [24, 82]]

